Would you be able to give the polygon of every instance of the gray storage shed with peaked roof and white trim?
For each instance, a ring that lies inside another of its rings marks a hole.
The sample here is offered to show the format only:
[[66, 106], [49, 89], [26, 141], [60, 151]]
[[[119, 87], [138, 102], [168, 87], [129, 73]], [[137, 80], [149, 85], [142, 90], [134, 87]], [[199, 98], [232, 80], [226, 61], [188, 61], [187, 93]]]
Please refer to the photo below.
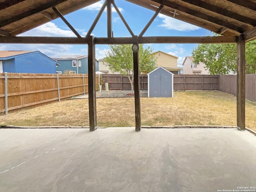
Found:
[[173, 97], [174, 74], [163, 67], [148, 73], [148, 97]]

